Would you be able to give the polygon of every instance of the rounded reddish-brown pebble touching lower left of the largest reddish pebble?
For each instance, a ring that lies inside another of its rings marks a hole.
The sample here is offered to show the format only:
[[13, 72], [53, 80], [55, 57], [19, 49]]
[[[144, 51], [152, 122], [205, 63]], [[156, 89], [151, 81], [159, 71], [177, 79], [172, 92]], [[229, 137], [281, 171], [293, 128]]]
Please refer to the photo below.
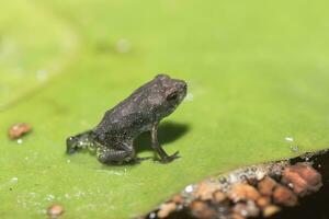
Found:
[[297, 196], [287, 187], [279, 185], [273, 193], [274, 203], [293, 207], [297, 205]]

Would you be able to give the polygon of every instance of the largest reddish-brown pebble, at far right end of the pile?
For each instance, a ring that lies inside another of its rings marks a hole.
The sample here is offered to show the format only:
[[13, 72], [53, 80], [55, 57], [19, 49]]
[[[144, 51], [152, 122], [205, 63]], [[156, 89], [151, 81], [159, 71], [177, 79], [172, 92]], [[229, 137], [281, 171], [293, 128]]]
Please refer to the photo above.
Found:
[[299, 196], [317, 192], [322, 186], [321, 175], [306, 163], [287, 166], [283, 172], [282, 182], [291, 184], [294, 193]]

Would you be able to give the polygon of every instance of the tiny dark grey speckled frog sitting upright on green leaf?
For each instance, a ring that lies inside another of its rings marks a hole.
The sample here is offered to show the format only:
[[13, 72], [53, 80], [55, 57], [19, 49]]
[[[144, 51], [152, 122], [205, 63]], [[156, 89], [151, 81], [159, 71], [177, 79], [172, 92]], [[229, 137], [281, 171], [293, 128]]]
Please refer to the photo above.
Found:
[[158, 126], [186, 96], [184, 81], [159, 74], [127, 99], [105, 113], [93, 129], [67, 139], [67, 153], [88, 148], [95, 151], [104, 164], [122, 164], [138, 161], [134, 139], [145, 131], [151, 134], [151, 148], [168, 163], [178, 157], [178, 151], [168, 155], [158, 142]]

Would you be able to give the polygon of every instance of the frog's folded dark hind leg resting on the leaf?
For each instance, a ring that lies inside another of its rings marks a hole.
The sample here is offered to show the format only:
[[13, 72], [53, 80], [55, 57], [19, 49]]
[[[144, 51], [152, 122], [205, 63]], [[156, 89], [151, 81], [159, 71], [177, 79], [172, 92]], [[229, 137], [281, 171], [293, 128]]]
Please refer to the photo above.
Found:
[[97, 149], [97, 157], [101, 163], [120, 165], [135, 161], [135, 150], [133, 143], [123, 143], [115, 149], [101, 146]]

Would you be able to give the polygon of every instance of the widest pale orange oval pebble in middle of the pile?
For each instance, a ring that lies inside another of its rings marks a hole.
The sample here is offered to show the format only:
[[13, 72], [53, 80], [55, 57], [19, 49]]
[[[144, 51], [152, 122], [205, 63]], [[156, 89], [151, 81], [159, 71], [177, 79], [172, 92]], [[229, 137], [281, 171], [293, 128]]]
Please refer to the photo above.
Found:
[[237, 184], [231, 188], [229, 193], [229, 198], [235, 203], [248, 199], [257, 200], [259, 197], [259, 192], [248, 184]]

